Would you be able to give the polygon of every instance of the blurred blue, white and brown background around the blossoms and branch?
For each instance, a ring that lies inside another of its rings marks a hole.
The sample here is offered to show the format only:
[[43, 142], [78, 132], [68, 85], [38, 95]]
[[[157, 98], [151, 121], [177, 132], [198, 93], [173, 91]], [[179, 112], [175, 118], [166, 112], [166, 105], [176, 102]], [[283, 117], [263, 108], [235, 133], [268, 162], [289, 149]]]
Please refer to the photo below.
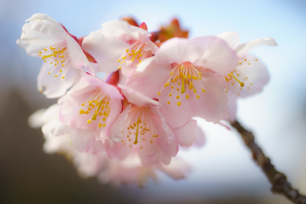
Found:
[[238, 102], [237, 120], [306, 194], [306, 2], [305, 1], [17, 1], [0, 0], [0, 203], [290, 203], [270, 192], [270, 183], [252, 161], [235, 131], [198, 120], [206, 134], [202, 148], [179, 152], [192, 165], [181, 181], [160, 176], [147, 187], [114, 189], [96, 178], [81, 179], [61, 155], [43, 152], [41, 130], [28, 116], [47, 108], [36, 90], [42, 60], [16, 45], [24, 21], [46, 13], [77, 37], [103, 22], [132, 16], [148, 31], [176, 17], [189, 38], [237, 31], [240, 43], [272, 37], [277, 47], [252, 50], [271, 76], [263, 92]]

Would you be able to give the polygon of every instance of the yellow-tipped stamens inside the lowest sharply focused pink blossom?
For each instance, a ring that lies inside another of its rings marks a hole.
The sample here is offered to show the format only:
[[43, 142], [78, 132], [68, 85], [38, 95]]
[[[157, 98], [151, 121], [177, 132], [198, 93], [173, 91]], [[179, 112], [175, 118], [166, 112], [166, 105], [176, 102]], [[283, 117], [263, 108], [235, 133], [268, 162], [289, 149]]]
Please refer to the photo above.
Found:
[[140, 149], [143, 149], [153, 144], [158, 134], [151, 118], [151, 108], [132, 106], [127, 112], [121, 133], [123, 145], [132, 147], [139, 142]]

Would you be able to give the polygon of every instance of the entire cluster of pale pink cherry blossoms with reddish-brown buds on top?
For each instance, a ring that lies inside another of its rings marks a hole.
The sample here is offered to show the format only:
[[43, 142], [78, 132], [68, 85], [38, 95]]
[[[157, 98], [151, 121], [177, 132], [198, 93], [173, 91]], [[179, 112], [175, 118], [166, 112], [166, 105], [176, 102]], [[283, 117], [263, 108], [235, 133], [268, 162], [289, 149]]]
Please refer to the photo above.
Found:
[[236, 100], [269, 79], [247, 51], [277, 45], [272, 38], [239, 44], [237, 32], [225, 32], [189, 40], [177, 20], [147, 30], [125, 18], [77, 38], [41, 13], [22, 27], [17, 44], [43, 60], [39, 92], [59, 98], [29, 123], [42, 127], [44, 151], [65, 154], [81, 176], [139, 185], [156, 170], [184, 178], [189, 166], [176, 157], [179, 146], [204, 141], [192, 117], [233, 121]]

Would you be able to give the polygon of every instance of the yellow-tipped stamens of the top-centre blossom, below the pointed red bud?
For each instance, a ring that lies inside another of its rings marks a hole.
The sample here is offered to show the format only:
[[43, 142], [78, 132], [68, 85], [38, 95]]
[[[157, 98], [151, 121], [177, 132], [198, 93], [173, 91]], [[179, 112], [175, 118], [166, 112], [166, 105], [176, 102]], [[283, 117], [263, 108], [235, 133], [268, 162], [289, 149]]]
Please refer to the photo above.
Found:
[[141, 62], [142, 59], [151, 56], [151, 51], [143, 50], [144, 46], [145, 43], [137, 41], [136, 43], [132, 44], [128, 49], [126, 49], [125, 53], [120, 57], [120, 59], [118, 59], [118, 62], [122, 60], [118, 68], [121, 69], [121, 65], [125, 61], [132, 61], [137, 65]]

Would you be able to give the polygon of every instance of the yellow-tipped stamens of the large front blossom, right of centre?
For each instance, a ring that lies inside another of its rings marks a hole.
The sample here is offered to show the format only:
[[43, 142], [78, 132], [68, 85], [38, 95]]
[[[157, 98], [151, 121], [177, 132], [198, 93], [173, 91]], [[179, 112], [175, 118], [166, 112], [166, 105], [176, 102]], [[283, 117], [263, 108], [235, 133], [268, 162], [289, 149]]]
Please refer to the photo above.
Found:
[[[197, 94], [197, 88], [202, 89], [202, 92], [206, 92], [201, 84], [201, 72], [190, 63], [183, 63], [181, 65], [175, 65], [170, 72], [170, 77], [158, 92], [158, 95], [161, 94], [162, 90], [170, 86], [171, 91], [169, 94], [169, 101], [167, 104], [170, 104], [172, 95], [176, 90], [176, 99], [178, 100], [177, 105], [181, 105], [180, 96], [185, 94], [186, 99], [189, 99], [189, 92], [192, 92], [198, 99], [200, 96]], [[188, 90], [189, 89], [189, 90]]]

